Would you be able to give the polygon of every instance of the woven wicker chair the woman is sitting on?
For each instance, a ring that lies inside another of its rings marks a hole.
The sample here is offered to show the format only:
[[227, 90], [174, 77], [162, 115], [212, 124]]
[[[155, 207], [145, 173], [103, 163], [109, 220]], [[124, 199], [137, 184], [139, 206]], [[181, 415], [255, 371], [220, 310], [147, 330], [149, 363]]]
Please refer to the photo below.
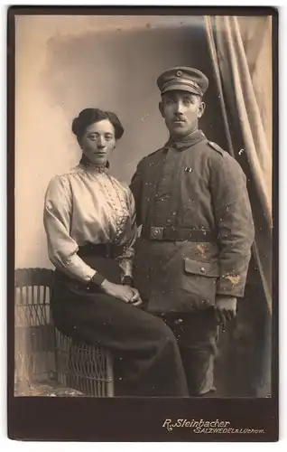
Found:
[[[15, 395], [113, 397], [110, 353], [76, 343], [54, 327], [52, 276], [47, 268], [15, 270]], [[32, 391], [39, 385], [45, 394]]]

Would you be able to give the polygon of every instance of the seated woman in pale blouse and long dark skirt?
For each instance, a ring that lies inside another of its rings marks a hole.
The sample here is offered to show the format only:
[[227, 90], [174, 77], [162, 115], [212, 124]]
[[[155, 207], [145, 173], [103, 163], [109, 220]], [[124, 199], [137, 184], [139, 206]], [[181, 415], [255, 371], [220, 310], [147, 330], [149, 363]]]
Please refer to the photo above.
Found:
[[[162, 319], [140, 309], [132, 287], [136, 224], [127, 185], [107, 173], [124, 129], [114, 113], [86, 108], [73, 120], [82, 158], [49, 184], [44, 226], [56, 267], [51, 310], [64, 334], [100, 344], [123, 362], [116, 395], [188, 395], [181, 355]], [[117, 386], [116, 386], [117, 388]]]

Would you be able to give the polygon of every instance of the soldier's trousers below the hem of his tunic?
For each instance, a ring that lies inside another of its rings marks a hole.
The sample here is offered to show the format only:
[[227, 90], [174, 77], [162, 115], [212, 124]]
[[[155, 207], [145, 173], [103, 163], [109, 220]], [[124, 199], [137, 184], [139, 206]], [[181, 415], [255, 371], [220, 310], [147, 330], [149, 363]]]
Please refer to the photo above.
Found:
[[210, 396], [214, 386], [218, 325], [213, 308], [189, 314], [162, 315], [176, 336], [190, 396]]

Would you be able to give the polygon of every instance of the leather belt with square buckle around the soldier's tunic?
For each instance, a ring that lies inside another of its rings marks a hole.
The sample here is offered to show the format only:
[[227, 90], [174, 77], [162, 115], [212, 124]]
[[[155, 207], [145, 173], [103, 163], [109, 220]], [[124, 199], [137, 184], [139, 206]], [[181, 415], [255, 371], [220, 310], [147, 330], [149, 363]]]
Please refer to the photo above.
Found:
[[143, 227], [141, 236], [148, 240], [162, 241], [217, 241], [217, 236], [213, 231], [172, 228], [171, 226]]

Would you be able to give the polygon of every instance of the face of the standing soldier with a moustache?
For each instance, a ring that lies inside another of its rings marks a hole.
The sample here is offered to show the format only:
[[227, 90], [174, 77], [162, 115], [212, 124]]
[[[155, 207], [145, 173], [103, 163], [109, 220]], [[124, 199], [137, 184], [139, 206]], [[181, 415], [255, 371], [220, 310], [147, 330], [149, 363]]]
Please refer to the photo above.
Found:
[[205, 108], [200, 96], [174, 90], [162, 95], [160, 111], [172, 137], [187, 137], [199, 127]]

